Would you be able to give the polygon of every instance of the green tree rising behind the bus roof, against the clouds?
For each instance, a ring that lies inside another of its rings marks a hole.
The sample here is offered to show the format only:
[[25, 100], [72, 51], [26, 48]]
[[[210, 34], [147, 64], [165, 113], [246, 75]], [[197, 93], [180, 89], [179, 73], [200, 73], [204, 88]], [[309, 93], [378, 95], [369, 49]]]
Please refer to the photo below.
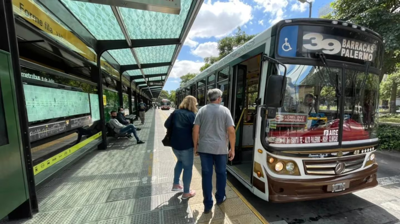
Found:
[[204, 65], [200, 68], [200, 71], [205, 70], [210, 67], [212, 64], [216, 63], [220, 59], [224, 58], [226, 55], [230, 54], [236, 48], [242, 46], [247, 41], [251, 40], [256, 34], [249, 35], [244, 32], [240, 26], [236, 30], [236, 33], [233, 36], [226, 36], [220, 40], [218, 40], [218, 57], [210, 56], [204, 58]]

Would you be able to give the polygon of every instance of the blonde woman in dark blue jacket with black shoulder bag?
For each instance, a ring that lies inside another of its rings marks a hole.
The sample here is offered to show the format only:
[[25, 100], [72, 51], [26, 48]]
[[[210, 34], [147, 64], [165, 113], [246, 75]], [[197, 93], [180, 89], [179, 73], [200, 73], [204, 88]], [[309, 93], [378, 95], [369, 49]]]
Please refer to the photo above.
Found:
[[[174, 151], [174, 154], [178, 159], [174, 170], [174, 185], [172, 186], [172, 190], [181, 191], [183, 189], [182, 199], [191, 198], [196, 195], [195, 190], [190, 190], [194, 157], [192, 129], [194, 119], [196, 118], [196, 105], [197, 100], [195, 97], [185, 97], [185, 99], [183, 99], [182, 103], [179, 105], [179, 109], [172, 112], [164, 123], [164, 127], [172, 128], [172, 151]], [[182, 173], [182, 169], [183, 187], [179, 184], [179, 177]]]

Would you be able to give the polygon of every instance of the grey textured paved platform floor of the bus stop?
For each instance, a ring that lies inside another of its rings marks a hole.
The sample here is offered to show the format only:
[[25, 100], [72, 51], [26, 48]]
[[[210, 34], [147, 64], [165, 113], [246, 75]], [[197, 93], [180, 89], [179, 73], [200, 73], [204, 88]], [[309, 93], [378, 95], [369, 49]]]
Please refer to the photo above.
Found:
[[[191, 188], [196, 196], [181, 200], [171, 192], [175, 157], [161, 139], [172, 111], [150, 110], [138, 131], [145, 144], [112, 139], [105, 151], [92, 151], [42, 188], [39, 213], [24, 224], [258, 224], [251, 205], [228, 183], [227, 201], [204, 214], [200, 158], [194, 160]], [[214, 175], [215, 183], [215, 175]], [[215, 201], [215, 200], [214, 200]]]

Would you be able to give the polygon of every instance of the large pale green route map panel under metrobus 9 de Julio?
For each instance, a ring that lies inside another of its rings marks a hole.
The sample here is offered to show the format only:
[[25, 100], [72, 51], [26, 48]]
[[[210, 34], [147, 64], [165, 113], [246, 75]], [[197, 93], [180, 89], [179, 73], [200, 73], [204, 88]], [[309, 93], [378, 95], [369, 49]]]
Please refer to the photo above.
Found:
[[28, 121], [90, 113], [88, 93], [24, 84]]

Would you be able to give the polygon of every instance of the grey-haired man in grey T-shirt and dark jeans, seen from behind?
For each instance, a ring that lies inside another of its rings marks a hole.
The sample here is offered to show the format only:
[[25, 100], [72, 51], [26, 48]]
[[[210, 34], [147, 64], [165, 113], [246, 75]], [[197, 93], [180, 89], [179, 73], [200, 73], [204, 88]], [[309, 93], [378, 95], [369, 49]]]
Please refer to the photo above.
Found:
[[[215, 165], [217, 205], [226, 200], [226, 159], [235, 157], [235, 129], [228, 108], [221, 105], [222, 91], [210, 89], [207, 92], [210, 103], [200, 108], [194, 120], [194, 154], [200, 155], [202, 169], [202, 189], [204, 213], [209, 213], [213, 206], [212, 172]], [[228, 142], [229, 139], [229, 142]], [[228, 151], [228, 143], [231, 149]]]

